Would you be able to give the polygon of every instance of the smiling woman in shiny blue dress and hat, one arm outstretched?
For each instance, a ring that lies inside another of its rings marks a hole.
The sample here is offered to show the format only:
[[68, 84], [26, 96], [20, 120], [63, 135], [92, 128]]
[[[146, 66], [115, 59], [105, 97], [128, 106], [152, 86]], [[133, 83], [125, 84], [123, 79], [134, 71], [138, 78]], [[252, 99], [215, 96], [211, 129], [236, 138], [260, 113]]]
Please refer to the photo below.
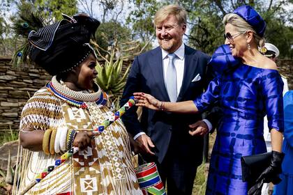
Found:
[[[263, 118], [271, 130], [271, 165], [263, 172], [264, 182], [280, 173], [283, 159], [283, 81], [276, 63], [262, 56], [265, 22], [250, 6], [225, 15], [225, 45], [219, 47], [210, 65], [218, 72], [208, 89], [194, 101], [161, 102], [149, 94], [135, 93], [138, 106], [179, 113], [202, 112], [218, 105], [223, 119], [211, 154], [206, 194], [248, 194], [241, 180], [241, 156], [266, 152]], [[194, 132], [190, 131], [193, 135]], [[261, 187], [260, 187], [261, 189]]]

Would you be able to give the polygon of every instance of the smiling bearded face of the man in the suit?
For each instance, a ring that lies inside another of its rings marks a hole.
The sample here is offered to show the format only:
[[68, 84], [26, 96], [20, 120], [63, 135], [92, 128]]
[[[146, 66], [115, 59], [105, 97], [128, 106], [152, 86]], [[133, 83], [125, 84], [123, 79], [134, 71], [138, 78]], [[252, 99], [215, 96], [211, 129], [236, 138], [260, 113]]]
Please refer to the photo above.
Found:
[[156, 25], [156, 37], [162, 49], [173, 53], [182, 44], [182, 37], [186, 31], [186, 24], [178, 24], [174, 15], [169, 15], [166, 20]]

